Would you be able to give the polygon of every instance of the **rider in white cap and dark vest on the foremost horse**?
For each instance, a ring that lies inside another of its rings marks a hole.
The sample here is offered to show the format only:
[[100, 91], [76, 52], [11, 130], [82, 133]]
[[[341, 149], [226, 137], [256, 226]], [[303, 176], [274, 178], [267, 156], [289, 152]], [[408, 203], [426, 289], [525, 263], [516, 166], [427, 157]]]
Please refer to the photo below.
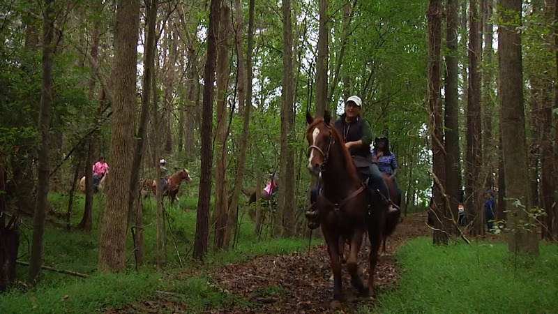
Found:
[[[388, 186], [382, 179], [382, 173], [379, 171], [378, 165], [372, 160], [372, 154], [370, 154], [370, 144], [372, 143], [370, 124], [361, 118], [361, 105], [362, 100], [359, 96], [347, 98], [345, 113], [341, 115], [338, 121], [335, 121], [335, 129], [345, 140], [345, 147], [349, 149], [361, 180], [368, 179], [368, 186], [379, 192], [382, 200], [377, 200], [377, 202], [388, 202]], [[319, 186], [312, 190], [310, 197], [317, 197], [318, 193]], [[313, 204], [306, 211], [306, 218], [308, 218], [310, 229], [319, 227], [317, 210], [313, 207]]]

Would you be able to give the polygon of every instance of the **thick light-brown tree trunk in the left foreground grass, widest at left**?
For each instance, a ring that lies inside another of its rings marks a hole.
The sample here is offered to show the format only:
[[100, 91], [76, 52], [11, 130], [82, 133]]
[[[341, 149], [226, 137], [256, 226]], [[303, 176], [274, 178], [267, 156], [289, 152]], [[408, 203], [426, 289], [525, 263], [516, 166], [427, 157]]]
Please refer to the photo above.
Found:
[[114, 114], [107, 178], [107, 207], [100, 232], [98, 270], [122, 271], [126, 267], [126, 223], [133, 156], [133, 105], [136, 102], [137, 38], [140, 1], [119, 0], [114, 27]]

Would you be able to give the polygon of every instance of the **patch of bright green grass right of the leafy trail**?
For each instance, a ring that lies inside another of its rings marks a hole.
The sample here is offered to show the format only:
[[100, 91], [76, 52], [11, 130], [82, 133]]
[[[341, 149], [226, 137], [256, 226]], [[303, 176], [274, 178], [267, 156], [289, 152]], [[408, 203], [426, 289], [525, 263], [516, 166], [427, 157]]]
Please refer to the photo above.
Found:
[[506, 244], [435, 247], [407, 242], [398, 252], [400, 288], [381, 291], [361, 313], [556, 313], [558, 246], [541, 243], [538, 259], [509, 254]]

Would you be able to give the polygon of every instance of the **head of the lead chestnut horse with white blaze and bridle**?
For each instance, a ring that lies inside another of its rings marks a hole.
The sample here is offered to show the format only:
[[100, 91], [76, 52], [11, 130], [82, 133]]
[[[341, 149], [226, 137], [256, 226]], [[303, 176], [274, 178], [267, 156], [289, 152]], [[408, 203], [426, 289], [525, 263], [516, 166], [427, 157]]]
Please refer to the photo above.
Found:
[[335, 142], [331, 126], [331, 117], [326, 110], [323, 119], [315, 119], [310, 112], [306, 112], [306, 140], [308, 140], [308, 170], [317, 176], [324, 170], [329, 158], [331, 145]]

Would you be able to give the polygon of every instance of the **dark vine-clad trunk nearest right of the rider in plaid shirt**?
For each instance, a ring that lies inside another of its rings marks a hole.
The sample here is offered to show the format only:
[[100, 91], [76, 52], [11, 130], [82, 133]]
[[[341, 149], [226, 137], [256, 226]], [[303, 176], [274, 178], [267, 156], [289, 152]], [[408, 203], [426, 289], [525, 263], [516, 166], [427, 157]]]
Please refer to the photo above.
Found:
[[[428, 109], [430, 112], [430, 137], [432, 141], [432, 173], [435, 175], [434, 202], [437, 216], [442, 221], [446, 221], [447, 204], [442, 195], [442, 190], [446, 184], [446, 152], [444, 151], [444, 125], [442, 124], [442, 98], [440, 87], [440, 63], [442, 50], [442, 0], [430, 0], [428, 11]], [[437, 180], [436, 180], [437, 179]], [[438, 184], [439, 181], [439, 184]], [[441, 184], [441, 186], [440, 186]], [[435, 225], [440, 230], [444, 226], [436, 221]], [[447, 234], [435, 231], [433, 235], [434, 244], [446, 244]]]

